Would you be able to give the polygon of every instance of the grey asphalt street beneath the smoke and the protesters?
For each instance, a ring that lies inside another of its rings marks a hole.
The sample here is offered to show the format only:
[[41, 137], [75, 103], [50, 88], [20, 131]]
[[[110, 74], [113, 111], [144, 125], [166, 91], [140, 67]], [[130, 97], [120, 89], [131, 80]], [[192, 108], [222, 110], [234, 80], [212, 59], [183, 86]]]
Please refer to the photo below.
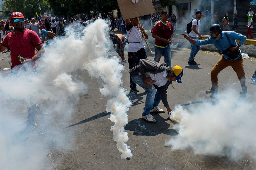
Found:
[[[185, 106], [188, 108], [193, 105], [203, 105], [202, 101], [214, 101], [209, 94], [205, 94], [205, 90], [211, 87], [210, 71], [220, 55], [214, 52], [199, 51], [195, 58], [198, 65], [188, 65], [189, 53], [190, 49], [172, 49], [172, 66], [182, 66], [184, 76], [182, 84], [174, 82], [175, 89], [171, 85], [168, 88], [168, 101], [171, 108], [185, 104], [188, 104]], [[0, 60], [1, 73], [6, 72], [3, 68], [10, 67], [8, 66], [9, 54], [10, 52], [0, 54], [0, 59], [4, 58]], [[111, 54], [116, 55], [113, 51]], [[147, 54], [148, 59], [153, 60], [154, 52], [147, 52]], [[125, 57], [128, 60], [127, 54]], [[164, 57], [161, 58], [161, 62], [164, 62]], [[244, 69], [248, 87], [247, 100], [255, 100], [256, 84], [252, 83], [250, 77], [256, 69], [256, 59], [244, 59]], [[127, 70], [129, 70], [128, 62], [125, 64], [122, 80], [123, 85], [129, 89], [130, 78]], [[88, 94], [80, 96], [75, 103], [73, 115], [65, 117], [65, 110], [56, 115], [46, 114], [44, 108], [47, 107], [47, 101], [45, 101], [40, 103], [40, 109], [36, 114], [38, 129], [31, 133], [24, 142], [13, 144], [8, 136], [1, 133], [0, 137], [4, 139], [5, 144], [1, 146], [4, 152], [2, 156], [8, 159], [6, 169], [21, 169], [22, 162], [24, 169], [27, 167], [27, 169], [55, 170], [256, 168], [256, 160], [249, 156], [244, 156], [236, 162], [228, 157], [195, 155], [190, 149], [172, 151], [172, 147], [165, 146], [165, 142], [177, 135], [177, 132], [172, 129], [175, 122], [169, 119], [167, 113], [152, 114], [156, 123], [141, 120], [146, 93], [139, 86], [140, 92], [128, 94], [132, 100], [132, 107], [127, 113], [128, 124], [125, 126], [129, 136], [127, 144], [130, 146], [133, 157], [131, 160], [121, 159], [120, 152], [116, 149], [116, 142], [113, 141], [113, 133], [109, 130], [113, 123], [108, 120], [109, 113], [105, 111], [108, 99], [101, 96], [99, 81], [88, 76], [86, 71], [78, 70], [73, 74], [77, 74], [79, 80], [88, 85]], [[231, 67], [220, 72], [219, 86], [220, 93], [225, 88], [235, 89], [237, 98], [239, 98], [241, 86]], [[2, 103], [8, 103], [3, 100], [5, 99], [2, 99]], [[191, 104], [196, 101], [199, 101], [198, 104]], [[162, 102], [159, 107], [164, 109]], [[18, 112], [25, 120], [24, 109]], [[12, 111], [12, 114], [17, 113]], [[6, 116], [3, 115], [4, 113], [0, 117]], [[31, 147], [37, 149], [31, 149], [31, 151], [20, 149], [30, 144]], [[19, 152], [14, 152], [14, 149]], [[16, 159], [22, 161], [14, 164]]]

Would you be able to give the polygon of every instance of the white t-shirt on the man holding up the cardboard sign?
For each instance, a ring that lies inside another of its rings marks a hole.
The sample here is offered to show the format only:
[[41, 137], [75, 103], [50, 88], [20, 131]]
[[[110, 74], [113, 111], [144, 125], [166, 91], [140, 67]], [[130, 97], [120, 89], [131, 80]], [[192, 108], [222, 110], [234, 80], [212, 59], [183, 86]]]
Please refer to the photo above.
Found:
[[132, 26], [132, 29], [127, 31], [127, 40], [129, 41], [128, 52], [136, 52], [139, 51], [140, 48], [145, 47], [143, 44], [142, 33], [140, 32], [140, 28], [137, 28], [137, 26]]

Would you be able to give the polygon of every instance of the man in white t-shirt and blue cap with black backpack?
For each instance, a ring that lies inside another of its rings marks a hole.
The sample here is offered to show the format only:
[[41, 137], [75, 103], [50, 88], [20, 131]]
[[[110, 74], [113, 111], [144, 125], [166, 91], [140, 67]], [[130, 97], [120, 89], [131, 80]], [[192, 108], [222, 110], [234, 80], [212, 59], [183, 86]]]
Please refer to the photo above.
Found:
[[[202, 11], [198, 10], [198, 11], [196, 11], [196, 18], [193, 19], [187, 25], [187, 33], [189, 35], [189, 38], [191, 38], [193, 40], [197, 40], [197, 36], [198, 36], [199, 39], [203, 39], [203, 36], [199, 33], [199, 28], [200, 28], [200, 24], [201, 24], [200, 18], [202, 18]], [[194, 57], [196, 56], [196, 54], [200, 50], [201, 46], [196, 45], [192, 42], [190, 42], [190, 44], [191, 44], [191, 52], [190, 52], [190, 55], [189, 55], [188, 64], [189, 65], [195, 65], [196, 62], [194, 60]]]

